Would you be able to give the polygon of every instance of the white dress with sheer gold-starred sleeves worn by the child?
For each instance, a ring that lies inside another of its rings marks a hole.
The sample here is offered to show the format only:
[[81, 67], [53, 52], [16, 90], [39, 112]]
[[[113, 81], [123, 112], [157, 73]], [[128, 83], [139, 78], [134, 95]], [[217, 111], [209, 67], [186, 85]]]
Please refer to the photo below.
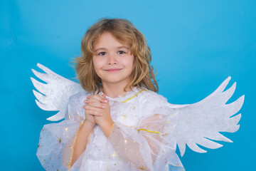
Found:
[[95, 125], [85, 151], [70, 167], [87, 95], [72, 95], [65, 120], [43, 126], [36, 155], [46, 170], [169, 170], [169, 165], [171, 170], [184, 170], [171, 135], [178, 110], [162, 95], [137, 87], [124, 97], [107, 97], [114, 121], [110, 137]]

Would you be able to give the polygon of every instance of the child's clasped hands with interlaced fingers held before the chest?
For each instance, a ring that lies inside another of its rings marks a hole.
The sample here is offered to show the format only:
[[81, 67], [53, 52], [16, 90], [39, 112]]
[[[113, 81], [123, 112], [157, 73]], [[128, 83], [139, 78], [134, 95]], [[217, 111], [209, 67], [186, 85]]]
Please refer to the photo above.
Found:
[[86, 97], [85, 105], [85, 121], [90, 125], [100, 125], [105, 135], [110, 134], [111, 126], [114, 123], [110, 115], [110, 104], [105, 94], [89, 95]]

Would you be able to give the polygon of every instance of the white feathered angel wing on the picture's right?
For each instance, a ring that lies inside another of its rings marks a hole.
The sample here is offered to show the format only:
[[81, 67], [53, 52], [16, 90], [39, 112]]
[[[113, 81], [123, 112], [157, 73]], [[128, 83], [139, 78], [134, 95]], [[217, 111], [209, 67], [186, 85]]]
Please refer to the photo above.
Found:
[[170, 104], [171, 108], [178, 110], [178, 123], [174, 128], [174, 137], [181, 156], [185, 153], [186, 144], [193, 151], [206, 152], [198, 145], [215, 149], [223, 145], [212, 140], [232, 142], [219, 132], [235, 133], [239, 129], [237, 124], [241, 114], [235, 115], [235, 113], [238, 113], [242, 107], [245, 95], [226, 105], [225, 103], [233, 95], [236, 85], [234, 83], [233, 86], [223, 92], [229, 81], [230, 77], [223, 81], [217, 90], [198, 103], [191, 105]]

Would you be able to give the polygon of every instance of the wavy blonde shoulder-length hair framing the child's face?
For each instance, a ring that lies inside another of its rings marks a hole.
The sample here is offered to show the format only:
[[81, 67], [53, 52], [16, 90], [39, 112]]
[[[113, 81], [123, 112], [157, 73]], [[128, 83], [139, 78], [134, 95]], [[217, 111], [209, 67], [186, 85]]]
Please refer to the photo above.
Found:
[[144, 35], [135, 28], [135, 26], [127, 19], [100, 19], [92, 25], [81, 42], [80, 57], [76, 57], [75, 71], [83, 89], [90, 93], [97, 94], [102, 90], [102, 83], [100, 77], [97, 76], [95, 68], [92, 63], [92, 56], [94, 54], [93, 47], [102, 33], [110, 32], [122, 43], [128, 43], [131, 47], [131, 53], [134, 55], [134, 67], [129, 76], [130, 81], [125, 86], [144, 87], [154, 92], [158, 92], [158, 85], [156, 83], [156, 73], [153, 73], [154, 68], [151, 63], [151, 52], [147, 46]]

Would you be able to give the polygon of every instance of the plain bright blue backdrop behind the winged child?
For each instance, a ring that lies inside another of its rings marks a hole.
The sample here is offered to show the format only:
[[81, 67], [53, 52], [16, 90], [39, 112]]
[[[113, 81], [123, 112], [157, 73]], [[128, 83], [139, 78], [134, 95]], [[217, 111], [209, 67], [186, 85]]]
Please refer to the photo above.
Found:
[[[39, 133], [50, 115], [37, 107], [30, 77], [41, 63], [75, 77], [70, 58], [102, 17], [125, 18], [144, 33], [169, 103], [196, 103], [232, 76], [245, 94], [233, 143], [181, 157], [189, 170], [251, 170], [255, 164], [256, 1], [1, 1], [1, 170], [43, 170], [36, 157]], [[34, 77], [34, 76], [33, 76]]]

